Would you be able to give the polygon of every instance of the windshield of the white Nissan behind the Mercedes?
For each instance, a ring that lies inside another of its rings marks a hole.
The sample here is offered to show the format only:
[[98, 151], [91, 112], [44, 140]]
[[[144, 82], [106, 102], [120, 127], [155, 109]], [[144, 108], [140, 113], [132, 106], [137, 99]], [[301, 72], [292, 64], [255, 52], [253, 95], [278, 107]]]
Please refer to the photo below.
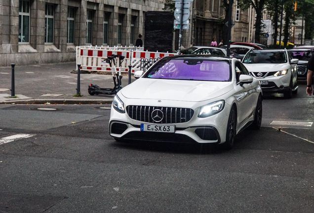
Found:
[[282, 51], [254, 51], [248, 53], [243, 63], [246, 64], [282, 64], [287, 63], [286, 53]]

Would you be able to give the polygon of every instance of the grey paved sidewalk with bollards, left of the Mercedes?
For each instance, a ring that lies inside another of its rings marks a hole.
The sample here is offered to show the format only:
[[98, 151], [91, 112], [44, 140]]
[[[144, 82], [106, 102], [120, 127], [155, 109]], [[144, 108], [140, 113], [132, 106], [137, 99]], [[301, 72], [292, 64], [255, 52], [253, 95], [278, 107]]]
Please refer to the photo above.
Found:
[[[113, 88], [110, 74], [80, 74], [80, 92], [77, 93], [76, 63], [45, 65], [15, 65], [15, 96], [11, 96], [11, 67], [0, 67], [0, 104], [111, 104], [113, 95], [88, 94], [88, 85]], [[122, 74], [122, 87], [128, 84], [128, 74]], [[135, 78], [131, 77], [132, 82]]]

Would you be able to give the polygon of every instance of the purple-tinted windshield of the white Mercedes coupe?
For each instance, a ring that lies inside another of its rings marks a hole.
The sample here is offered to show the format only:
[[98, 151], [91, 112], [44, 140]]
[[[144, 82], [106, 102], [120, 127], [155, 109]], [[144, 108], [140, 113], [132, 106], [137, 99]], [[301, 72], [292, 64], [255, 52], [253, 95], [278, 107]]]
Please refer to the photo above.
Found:
[[225, 61], [177, 58], [159, 61], [144, 78], [229, 81], [230, 66]]

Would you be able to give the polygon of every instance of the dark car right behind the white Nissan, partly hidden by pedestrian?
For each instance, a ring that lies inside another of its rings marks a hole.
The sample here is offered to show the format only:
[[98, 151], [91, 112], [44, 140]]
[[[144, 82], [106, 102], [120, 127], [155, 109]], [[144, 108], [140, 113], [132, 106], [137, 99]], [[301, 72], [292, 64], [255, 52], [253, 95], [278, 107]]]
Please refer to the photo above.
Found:
[[298, 67], [298, 79], [299, 80], [306, 80], [308, 75], [308, 61], [310, 57], [313, 55], [314, 51], [311, 49], [300, 49], [300, 48], [293, 48], [288, 50], [291, 57], [294, 59], [299, 59], [297, 64]]

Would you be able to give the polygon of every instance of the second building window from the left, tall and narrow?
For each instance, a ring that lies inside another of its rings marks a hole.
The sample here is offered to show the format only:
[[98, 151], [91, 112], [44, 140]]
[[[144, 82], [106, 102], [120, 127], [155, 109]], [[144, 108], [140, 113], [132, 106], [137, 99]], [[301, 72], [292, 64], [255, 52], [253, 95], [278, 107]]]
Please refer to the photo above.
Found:
[[54, 5], [46, 4], [45, 10], [45, 43], [53, 43]]

